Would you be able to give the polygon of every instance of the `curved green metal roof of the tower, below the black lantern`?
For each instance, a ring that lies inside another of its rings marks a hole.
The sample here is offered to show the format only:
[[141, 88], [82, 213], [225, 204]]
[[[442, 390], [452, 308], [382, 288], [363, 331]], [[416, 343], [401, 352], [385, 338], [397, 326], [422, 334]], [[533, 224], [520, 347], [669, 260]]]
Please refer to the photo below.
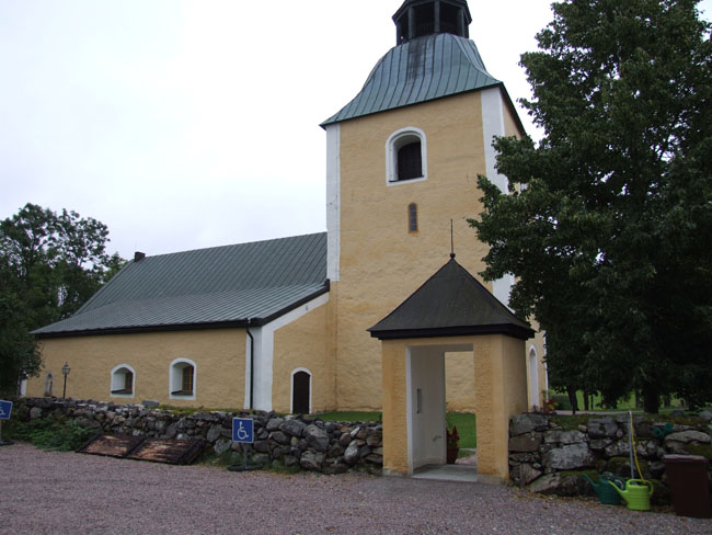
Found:
[[321, 126], [501, 83], [485, 69], [474, 42], [426, 35], [391, 48], [360, 93]]

